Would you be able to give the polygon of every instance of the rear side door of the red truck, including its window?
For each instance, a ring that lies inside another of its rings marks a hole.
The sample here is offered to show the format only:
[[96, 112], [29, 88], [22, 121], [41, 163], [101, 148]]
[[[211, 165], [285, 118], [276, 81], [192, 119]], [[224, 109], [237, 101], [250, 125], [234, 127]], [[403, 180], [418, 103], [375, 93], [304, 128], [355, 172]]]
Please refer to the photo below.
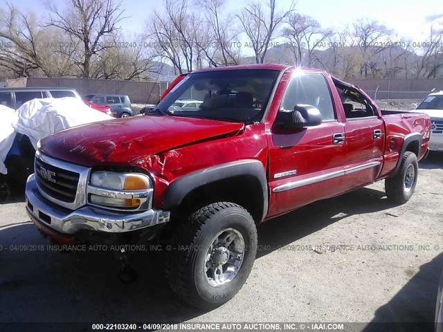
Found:
[[345, 187], [368, 185], [377, 178], [385, 148], [385, 129], [377, 109], [360, 91], [338, 91], [342, 97], [345, 121]]

